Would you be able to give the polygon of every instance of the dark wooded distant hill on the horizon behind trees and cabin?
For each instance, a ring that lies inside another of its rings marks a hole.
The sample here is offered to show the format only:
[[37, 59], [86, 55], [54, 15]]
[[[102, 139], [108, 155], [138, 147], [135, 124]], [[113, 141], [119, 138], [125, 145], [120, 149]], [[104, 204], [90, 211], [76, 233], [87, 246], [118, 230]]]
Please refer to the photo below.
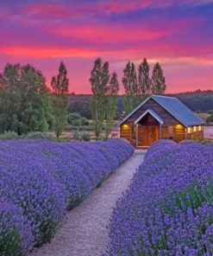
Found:
[[[208, 112], [213, 110], [213, 91], [201, 91], [187, 93], [166, 94], [166, 96], [176, 97], [181, 100], [194, 112]], [[117, 118], [120, 118], [123, 111], [122, 95], [117, 99]], [[70, 94], [69, 112], [78, 112], [85, 118], [91, 118], [90, 94]]]

